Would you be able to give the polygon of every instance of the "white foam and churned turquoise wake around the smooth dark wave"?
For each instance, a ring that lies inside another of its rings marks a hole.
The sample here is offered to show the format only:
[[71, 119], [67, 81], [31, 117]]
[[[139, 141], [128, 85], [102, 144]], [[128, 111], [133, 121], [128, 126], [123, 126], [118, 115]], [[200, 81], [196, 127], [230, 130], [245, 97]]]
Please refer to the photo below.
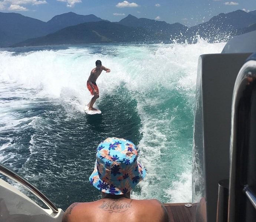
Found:
[[[72, 118], [75, 112], [82, 113], [91, 99], [86, 81], [100, 59], [111, 73], [102, 72], [97, 80], [101, 97], [96, 104], [124, 87], [137, 102], [135, 110], [141, 118], [138, 150], [147, 176], [132, 196], [162, 202], [191, 201], [197, 60], [201, 54], [220, 53], [223, 47], [224, 43], [210, 44], [197, 38], [196, 44], [91, 45], [19, 54], [0, 51], [0, 94], [5, 98], [0, 108], [0, 131], [38, 127], [36, 114], [26, 119], [17, 115], [17, 110], [40, 101], [61, 105]], [[122, 99], [125, 101], [125, 94]], [[27, 136], [29, 158], [36, 141]], [[8, 152], [10, 144], [11, 137], [0, 144], [1, 161], [19, 159]]]

